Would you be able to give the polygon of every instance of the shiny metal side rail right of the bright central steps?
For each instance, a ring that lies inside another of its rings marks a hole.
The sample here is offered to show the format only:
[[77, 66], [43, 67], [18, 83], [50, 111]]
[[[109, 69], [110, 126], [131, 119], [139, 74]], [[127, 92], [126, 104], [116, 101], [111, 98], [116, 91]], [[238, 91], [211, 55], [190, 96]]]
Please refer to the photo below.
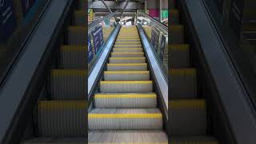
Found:
[[154, 53], [154, 47], [150, 44], [150, 41], [146, 37], [146, 33], [141, 24], [138, 24], [138, 32], [142, 40], [142, 45], [144, 47], [147, 60], [150, 64], [150, 70], [154, 75], [154, 82], [157, 84], [160, 99], [164, 104], [166, 118], [168, 118], [168, 82], [161, 66], [158, 63], [158, 56]]

